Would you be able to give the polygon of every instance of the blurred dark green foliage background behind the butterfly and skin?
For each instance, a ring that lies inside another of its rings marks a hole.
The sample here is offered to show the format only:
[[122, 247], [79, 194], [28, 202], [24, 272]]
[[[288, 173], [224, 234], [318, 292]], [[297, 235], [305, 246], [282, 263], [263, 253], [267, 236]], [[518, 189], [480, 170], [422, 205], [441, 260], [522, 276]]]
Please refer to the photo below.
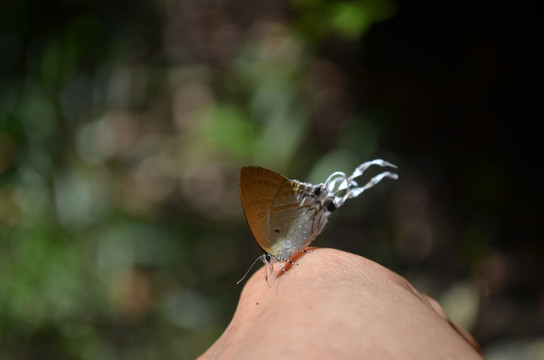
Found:
[[536, 13], [0, 1], [0, 358], [195, 358], [259, 255], [240, 167], [373, 158], [400, 179], [314, 244], [399, 272], [489, 359], [543, 358]]

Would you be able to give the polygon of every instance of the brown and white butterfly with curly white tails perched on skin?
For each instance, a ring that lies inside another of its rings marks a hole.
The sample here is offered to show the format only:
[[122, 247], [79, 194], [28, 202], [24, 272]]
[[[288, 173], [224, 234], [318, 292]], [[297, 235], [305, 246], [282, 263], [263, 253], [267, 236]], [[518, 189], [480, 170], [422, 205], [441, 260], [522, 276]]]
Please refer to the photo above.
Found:
[[[361, 195], [386, 177], [398, 178], [397, 174], [384, 171], [359, 186], [355, 178], [372, 165], [396, 168], [387, 161], [376, 159], [359, 165], [351, 176], [337, 171], [324, 183], [312, 185], [289, 180], [262, 167], [243, 167], [240, 170], [240, 199], [249, 228], [264, 254], [253, 262], [237, 284], [245, 279], [258, 260], [268, 265], [271, 273], [276, 263], [287, 274], [281, 263], [298, 265], [290, 259], [298, 252], [308, 252], [305, 248], [346, 200]], [[267, 270], [265, 278], [268, 281]]]

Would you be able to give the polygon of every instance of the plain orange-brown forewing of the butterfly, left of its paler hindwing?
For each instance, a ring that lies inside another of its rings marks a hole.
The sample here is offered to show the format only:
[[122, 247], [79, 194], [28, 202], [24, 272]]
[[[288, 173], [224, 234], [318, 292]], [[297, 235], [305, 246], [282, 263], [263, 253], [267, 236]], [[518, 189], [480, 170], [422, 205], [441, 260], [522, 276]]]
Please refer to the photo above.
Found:
[[266, 252], [274, 254], [270, 239], [270, 212], [278, 190], [286, 182], [285, 176], [258, 166], [240, 170], [240, 199], [249, 228], [257, 244]]

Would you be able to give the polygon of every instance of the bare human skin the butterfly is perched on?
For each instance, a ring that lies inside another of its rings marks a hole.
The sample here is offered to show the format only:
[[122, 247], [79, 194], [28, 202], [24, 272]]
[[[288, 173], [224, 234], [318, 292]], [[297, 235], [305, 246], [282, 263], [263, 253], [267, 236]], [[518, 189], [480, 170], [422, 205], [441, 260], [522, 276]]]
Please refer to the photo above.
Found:
[[201, 359], [482, 359], [436, 301], [383, 266], [333, 249], [293, 260], [268, 284], [263, 269], [248, 280]]

